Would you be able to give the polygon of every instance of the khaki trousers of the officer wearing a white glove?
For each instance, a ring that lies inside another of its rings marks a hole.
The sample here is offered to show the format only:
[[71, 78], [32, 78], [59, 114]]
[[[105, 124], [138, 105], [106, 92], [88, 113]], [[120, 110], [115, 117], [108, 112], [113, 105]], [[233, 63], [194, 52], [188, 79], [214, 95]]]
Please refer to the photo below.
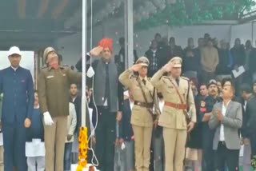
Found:
[[46, 171], [63, 171], [67, 116], [53, 117], [53, 121], [53, 125], [44, 125]]

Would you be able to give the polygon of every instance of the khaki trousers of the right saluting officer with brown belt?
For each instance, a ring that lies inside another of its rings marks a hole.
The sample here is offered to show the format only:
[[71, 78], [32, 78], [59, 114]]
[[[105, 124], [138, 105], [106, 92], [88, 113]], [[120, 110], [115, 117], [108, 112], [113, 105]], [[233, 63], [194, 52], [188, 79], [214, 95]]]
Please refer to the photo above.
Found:
[[186, 129], [170, 129], [163, 127], [165, 144], [166, 171], [182, 171], [186, 149]]

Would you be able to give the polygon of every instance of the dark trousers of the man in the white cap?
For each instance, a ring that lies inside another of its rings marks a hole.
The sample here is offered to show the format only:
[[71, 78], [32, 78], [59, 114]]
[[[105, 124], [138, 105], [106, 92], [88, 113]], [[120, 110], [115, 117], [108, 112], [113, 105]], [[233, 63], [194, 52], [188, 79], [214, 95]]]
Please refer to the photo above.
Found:
[[4, 170], [13, 171], [16, 166], [18, 171], [26, 171], [26, 128], [22, 123], [3, 123], [3, 148], [4, 148]]

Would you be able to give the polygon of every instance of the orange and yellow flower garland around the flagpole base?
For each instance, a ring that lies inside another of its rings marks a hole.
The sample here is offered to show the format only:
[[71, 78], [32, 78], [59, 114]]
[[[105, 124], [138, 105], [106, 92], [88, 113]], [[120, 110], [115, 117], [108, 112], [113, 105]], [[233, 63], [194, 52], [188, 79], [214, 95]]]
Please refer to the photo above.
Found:
[[77, 171], [82, 171], [87, 165], [87, 151], [88, 151], [88, 136], [87, 128], [81, 127], [79, 133], [79, 154], [78, 154], [78, 168]]

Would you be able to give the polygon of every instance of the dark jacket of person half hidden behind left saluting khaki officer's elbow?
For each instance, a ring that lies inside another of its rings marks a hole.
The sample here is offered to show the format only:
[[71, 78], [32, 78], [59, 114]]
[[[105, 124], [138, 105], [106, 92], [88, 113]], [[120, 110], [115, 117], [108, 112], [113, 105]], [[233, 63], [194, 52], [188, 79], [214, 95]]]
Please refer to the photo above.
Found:
[[121, 132], [122, 135], [121, 137], [125, 141], [130, 141], [131, 137], [134, 135], [133, 128], [130, 124], [130, 118], [131, 118], [131, 109], [130, 109], [130, 100], [126, 99], [123, 102], [123, 107], [122, 107], [122, 121], [121, 121]]

